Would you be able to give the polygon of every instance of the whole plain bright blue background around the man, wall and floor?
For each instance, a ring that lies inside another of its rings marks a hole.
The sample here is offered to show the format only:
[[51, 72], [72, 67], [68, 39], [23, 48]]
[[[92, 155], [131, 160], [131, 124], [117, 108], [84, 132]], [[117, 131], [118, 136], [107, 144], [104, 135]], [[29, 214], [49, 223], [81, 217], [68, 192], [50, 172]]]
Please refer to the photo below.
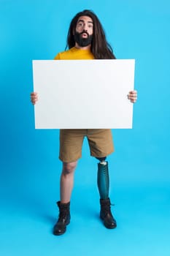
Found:
[[[73, 16], [96, 12], [117, 59], [136, 59], [134, 128], [113, 130], [108, 157], [117, 229], [98, 219], [96, 159], [83, 145], [72, 223], [58, 216], [58, 130], [35, 130], [32, 60], [66, 46]], [[170, 255], [170, 3], [168, 0], [0, 0], [0, 253], [6, 255]]]

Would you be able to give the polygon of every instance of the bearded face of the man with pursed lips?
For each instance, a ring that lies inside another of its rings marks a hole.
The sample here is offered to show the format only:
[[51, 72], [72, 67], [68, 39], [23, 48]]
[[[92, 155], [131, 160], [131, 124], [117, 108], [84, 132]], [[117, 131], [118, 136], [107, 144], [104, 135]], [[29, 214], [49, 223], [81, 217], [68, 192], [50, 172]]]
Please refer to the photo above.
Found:
[[93, 20], [88, 16], [81, 16], [77, 20], [76, 31], [74, 33], [75, 42], [80, 47], [90, 45], [93, 38]]

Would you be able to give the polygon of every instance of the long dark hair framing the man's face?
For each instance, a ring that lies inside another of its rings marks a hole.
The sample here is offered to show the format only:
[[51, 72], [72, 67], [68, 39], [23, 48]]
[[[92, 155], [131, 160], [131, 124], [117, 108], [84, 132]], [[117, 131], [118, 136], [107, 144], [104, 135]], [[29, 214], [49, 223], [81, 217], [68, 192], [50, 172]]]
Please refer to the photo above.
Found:
[[111, 45], [107, 42], [104, 29], [101, 26], [100, 20], [93, 11], [84, 10], [82, 12], [78, 12], [77, 15], [72, 19], [69, 31], [67, 35], [67, 44], [66, 48], [72, 48], [75, 46], [74, 34], [77, 26], [77, 20], [80, 16], [88, 16], [93, 20], [93, 39], [91, 42], [91, 52], [95, 59], [116, 59], [113, 53]]

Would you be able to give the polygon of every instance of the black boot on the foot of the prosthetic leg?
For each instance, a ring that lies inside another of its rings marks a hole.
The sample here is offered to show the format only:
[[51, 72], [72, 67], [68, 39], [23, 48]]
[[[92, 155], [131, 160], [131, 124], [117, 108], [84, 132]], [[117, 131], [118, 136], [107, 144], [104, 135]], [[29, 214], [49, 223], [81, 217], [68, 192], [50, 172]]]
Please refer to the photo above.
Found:
[[115, 228], [117, 227], [116, 221], [114, 217], [112, 216], [112, 212], [110, 209], [110, 200], [108, 199], [101, 199], [101, 211], [100, 211], [100, 217], [104, 222], [104, 226], [107, 228]]

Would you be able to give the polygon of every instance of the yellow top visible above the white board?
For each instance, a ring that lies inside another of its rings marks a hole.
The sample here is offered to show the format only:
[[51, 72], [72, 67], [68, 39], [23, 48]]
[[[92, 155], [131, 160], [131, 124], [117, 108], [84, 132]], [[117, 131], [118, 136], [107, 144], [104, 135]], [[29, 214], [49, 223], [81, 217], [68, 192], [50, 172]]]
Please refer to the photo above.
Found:
[[74, 60], [74, 59], [94, 59], [93, 53], [90, 50], [82, 50], [78, 48], [71, 48], [69, 50], [65, 50], [62, 53], [58, 53], [54, 58], [55, 60]]

